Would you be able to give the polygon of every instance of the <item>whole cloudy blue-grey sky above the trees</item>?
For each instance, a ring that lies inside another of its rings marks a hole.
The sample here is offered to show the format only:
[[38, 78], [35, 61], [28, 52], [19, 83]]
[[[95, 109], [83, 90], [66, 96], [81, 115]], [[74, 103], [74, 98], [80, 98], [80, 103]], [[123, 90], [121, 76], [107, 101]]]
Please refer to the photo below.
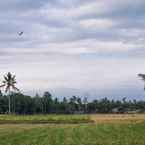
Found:
[[28, 94], [144, 99], [145, 1], [0, 1], [0, 81], [9, 71]]

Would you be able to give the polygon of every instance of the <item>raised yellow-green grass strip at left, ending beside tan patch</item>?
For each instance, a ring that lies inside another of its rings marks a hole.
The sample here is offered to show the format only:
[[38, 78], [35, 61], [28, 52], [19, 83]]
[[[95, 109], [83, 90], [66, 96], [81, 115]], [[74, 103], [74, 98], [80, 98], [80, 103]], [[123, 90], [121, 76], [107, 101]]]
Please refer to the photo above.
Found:
[[56, 123], [76, 124], [92, 123], [88, 115], [0, 115], [0, 124], [23, 124], [23, 123]]

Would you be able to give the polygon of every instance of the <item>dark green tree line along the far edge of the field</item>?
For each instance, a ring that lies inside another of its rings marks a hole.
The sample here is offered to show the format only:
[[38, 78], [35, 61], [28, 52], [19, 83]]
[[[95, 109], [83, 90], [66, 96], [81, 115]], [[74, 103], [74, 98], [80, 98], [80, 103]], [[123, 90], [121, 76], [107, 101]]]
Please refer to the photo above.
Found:
[[[0, 93], [0, 114], [8, 112], [8, 96]], [[11, 112], [15, 114], [86, 114], [86, 113], [135, 113], [145, 111], [145, 101], [101, 100], [87, 101], [73, 96], [70, 99], [52, 97], [49, 92], [35, 97], [11, 93]]]

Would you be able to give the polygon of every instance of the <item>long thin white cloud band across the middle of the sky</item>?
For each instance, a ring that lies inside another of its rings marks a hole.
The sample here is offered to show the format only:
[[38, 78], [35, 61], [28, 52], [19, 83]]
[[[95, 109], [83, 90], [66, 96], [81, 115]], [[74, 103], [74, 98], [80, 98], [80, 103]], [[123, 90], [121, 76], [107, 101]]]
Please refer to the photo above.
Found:
[[[27, 54], [119, 54], [130, 53], [142, 49], [144, 44], [124, 41], [100, 41], [97, 39], [78, 40], [73, 42], [44, 43], [37, 48], [7, 48], [1, 52], [8, 54], [27, 53]], [[40, 49], [41, 48], [41, 49]]]

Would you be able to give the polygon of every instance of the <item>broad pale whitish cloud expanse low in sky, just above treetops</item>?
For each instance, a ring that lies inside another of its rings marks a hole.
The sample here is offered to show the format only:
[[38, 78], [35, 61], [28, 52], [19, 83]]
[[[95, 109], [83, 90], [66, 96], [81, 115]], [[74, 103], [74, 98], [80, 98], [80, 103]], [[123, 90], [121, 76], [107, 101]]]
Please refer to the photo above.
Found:
[[14, 72], [18, 86], [23, 91], [72, 88], [82, 93], [88, 90], [102, 93], [116, 88], [126, 90], [139, 86], [141, 90], [143, 85], [137, 74], [145, 72], [144, 58], [104, 59], [98, 56], [85, 58], [65, 55], [49, 57], [35, 54], [27, 56], [30, 62], [18, 63], [21, 57], [16, 57], [15, 61], [14, 57], [5, 60], [11, 63], [1, 65], [0, 76], [7, 71]]

